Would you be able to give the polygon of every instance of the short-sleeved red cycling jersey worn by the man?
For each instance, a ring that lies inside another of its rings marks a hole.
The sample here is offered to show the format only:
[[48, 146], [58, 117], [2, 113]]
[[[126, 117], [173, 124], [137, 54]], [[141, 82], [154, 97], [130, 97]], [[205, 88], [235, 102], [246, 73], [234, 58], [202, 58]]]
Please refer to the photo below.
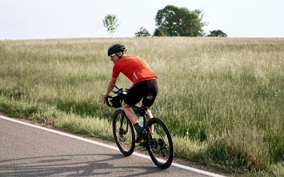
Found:
[[121, 59], [114, 64], [112, 77], [119, 77], [120, 72], [128, 77], [134, 84], [138, 81], [158, 79], [158, 76], [155, 75], [148, 64], [137, 56], [122, 56]]

